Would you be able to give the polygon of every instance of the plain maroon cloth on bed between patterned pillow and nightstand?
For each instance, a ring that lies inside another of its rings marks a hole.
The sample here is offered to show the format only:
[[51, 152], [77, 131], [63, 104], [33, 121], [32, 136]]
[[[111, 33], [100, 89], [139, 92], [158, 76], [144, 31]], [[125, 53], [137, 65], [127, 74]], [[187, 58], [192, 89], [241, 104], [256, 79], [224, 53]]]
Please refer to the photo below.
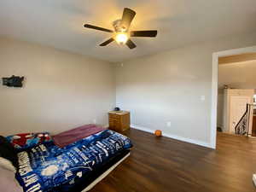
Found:
[[89, 137], [104, 130], [106, 129], [103, 129], [101, 126], [93, 124], [84, 125], [73, 130], [61, 132], [60, 134], [53, 136], [53, 140], [55, 145], [63, 148], [71, 143], [77, 142], [85, 137]]

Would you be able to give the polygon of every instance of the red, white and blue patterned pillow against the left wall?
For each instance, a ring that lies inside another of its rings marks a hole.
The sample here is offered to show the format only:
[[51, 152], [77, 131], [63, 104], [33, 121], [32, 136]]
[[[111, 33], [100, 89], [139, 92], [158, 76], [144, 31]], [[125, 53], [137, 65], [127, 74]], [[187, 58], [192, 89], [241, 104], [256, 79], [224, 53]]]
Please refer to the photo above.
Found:
[[48, 132], [42, 133], [22, 133], [13, 136], [6, 137], [9, 143], [11, 143], [17, 149], [32, 148], [42, 143], [49, 143], [52, 141]]

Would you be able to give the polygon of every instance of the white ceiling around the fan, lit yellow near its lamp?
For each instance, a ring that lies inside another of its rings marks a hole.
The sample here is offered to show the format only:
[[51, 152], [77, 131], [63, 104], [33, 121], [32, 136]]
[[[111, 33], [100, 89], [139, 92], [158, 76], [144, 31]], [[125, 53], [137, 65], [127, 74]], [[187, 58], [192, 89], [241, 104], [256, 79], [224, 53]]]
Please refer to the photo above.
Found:
[[[133, 38], [136, 49], [83, 27], [112, 29], [125, 7], [137, 11], [132, 30], [159, 31], [157, 38]], [[256, 0], [1, 0], [0, 35], [66, 49], [106, 61], [125, 61], [227, 35], [255, 32]]]

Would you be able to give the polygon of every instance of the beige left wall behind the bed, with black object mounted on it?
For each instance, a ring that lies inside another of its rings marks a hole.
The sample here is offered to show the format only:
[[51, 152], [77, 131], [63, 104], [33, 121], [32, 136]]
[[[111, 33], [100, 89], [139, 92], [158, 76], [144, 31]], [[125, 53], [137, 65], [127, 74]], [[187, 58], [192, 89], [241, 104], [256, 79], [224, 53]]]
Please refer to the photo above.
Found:
[[13, 74], [25, 76], [25, 86], [8, 88], [1, 80], [1, 135], [60, 132], [94, 119], [108, 125], [108, 110], [115, 105], [108, 62], [0, 38], [0, 77]]

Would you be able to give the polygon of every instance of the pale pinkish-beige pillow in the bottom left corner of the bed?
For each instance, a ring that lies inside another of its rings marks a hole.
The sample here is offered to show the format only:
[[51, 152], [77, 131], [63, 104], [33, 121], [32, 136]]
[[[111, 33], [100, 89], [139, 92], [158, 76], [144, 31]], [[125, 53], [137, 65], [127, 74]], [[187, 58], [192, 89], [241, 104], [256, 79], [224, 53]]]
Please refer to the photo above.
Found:
[[1, 191], [4, 192], [23, 192], [20, 184], [15, 179], [15, 173], [0, 167]]

